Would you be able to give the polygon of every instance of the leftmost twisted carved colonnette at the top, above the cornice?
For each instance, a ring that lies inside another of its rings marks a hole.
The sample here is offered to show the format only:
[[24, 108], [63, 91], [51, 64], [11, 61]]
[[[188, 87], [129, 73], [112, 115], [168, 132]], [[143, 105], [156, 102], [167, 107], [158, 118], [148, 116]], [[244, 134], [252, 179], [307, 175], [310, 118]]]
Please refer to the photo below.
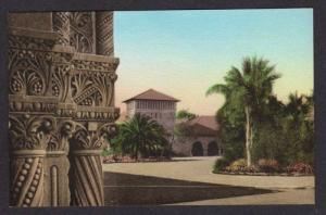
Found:
[[53, 12], [53, 31], [58, 33], [58, 45], [70, 46], [70, 12]]

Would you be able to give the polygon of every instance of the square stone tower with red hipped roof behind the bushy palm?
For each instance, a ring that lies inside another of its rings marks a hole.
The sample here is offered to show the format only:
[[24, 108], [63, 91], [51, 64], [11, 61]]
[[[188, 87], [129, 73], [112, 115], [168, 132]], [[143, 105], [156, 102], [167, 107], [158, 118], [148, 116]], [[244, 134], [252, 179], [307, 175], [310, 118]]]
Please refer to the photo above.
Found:
[[133, 117], [136, 113], [148, 115], [163, 125], [172, 135], [178, 101], [171, 96], [149, 89], [124, 101], [127, 105], [126, 118]]

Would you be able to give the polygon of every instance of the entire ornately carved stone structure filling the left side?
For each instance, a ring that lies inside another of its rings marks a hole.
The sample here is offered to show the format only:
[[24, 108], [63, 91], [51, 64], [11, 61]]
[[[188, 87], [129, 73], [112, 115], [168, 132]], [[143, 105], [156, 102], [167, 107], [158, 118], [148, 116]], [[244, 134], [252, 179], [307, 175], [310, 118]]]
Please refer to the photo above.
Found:
[[115, 132], [113, 12], [12, 13], [11, 206], [103, 205]]

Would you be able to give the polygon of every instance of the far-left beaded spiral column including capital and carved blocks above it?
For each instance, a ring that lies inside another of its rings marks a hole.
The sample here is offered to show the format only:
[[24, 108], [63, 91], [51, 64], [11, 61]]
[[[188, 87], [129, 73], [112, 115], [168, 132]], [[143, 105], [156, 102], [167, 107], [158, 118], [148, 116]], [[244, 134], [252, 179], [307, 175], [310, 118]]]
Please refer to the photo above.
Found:
[[48, 97], [54, 36], [10, 29], [9, 142], [10, 205], [42, 206], [47, 143], [53, 127], [55, 98]]

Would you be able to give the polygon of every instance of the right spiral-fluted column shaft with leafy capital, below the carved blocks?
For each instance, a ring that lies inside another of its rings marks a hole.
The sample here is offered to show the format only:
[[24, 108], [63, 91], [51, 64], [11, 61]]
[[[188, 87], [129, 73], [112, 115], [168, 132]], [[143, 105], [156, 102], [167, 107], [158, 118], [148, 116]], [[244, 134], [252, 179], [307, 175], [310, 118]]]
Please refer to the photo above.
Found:
[[97, 128], [78, 124], [71, 140], [71, 192], [72, 205], [103, 206], [103, 173], [101, 151], [108, 146], [111, 124]]

